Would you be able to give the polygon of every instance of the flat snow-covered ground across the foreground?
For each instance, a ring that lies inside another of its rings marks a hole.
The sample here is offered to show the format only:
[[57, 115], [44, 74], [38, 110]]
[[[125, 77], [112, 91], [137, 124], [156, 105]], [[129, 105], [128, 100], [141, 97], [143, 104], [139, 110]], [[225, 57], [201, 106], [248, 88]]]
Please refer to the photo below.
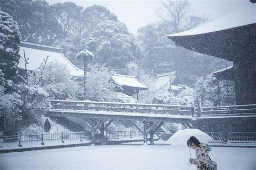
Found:
[[[218, 169], [256, 169], [256, 148], [213, 147], [210, 155]], [[196, 169], [189, 157], [185, 146], [139, 142], [3, 153], [0, 169]]]

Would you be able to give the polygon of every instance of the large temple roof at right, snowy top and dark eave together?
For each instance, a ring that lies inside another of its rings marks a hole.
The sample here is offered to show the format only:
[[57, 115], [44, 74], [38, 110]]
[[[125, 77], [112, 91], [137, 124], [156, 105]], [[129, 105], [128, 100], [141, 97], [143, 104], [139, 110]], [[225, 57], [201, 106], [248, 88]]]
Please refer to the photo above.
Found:
[[210, 23], [167, 37], [176, 45], [199, 53], [231, 61], [252, 60], [256, 41], [255, 11], [255, 5], [251, 4]]

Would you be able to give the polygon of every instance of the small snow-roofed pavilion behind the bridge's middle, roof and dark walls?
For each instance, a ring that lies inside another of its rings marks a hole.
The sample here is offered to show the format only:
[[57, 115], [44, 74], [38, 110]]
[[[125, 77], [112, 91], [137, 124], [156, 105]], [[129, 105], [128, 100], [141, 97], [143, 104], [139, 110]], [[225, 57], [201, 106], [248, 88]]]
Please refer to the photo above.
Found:
[[135, 76], [112, 74], [111, 81], [117, 85], [116, 86], [117, 91], [120, 91], [129, 96], [136, 94], [137, 100], [139, 100], [138, 98], [139, 91], [147, 90], [149, 88], [143, 85], [142, 83], [138, 82]]

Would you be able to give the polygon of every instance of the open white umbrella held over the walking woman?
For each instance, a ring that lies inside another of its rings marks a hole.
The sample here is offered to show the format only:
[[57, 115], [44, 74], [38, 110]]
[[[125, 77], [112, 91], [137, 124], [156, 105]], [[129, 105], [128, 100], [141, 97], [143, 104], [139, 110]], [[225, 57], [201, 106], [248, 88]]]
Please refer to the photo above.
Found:
[[209, 141], [213, 140], [212, 137], [208, 136], [205, 132], [202, 132], [198, 129], [184, 129], [179, 130], [166, 141], [166, 144], [172, 146], [187, 146], [187, 140], [191, 137], [196, 137], [200, 143], [208, 144]]

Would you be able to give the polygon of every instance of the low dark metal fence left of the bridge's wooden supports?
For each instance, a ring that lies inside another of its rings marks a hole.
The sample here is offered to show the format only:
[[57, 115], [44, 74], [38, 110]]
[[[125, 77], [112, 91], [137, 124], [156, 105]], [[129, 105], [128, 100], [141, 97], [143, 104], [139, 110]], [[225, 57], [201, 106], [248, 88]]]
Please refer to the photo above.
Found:
[[78, 140], [89, 140], [91, 134], [89, 132], [70, 132], [70, 133], [42, 133], [42, 134], [18, 134], [15, 136], [0, 136], [0, 143], [13, 143], [18, 142], [19, 144], [24, 142], [32, 141], [45, 141], [78, 139]]

